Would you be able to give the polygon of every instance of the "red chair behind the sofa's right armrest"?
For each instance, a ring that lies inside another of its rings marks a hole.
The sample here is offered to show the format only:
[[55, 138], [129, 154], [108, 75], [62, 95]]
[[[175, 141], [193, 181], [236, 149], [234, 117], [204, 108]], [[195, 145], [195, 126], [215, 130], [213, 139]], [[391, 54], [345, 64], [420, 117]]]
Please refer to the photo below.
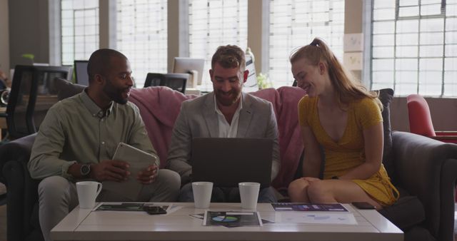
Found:
[[425, 135], [445, 143], [457, 143], [457, 131], [435, 131], [431, 120], [430, 108], [423, 96], [409, 95], [408, 104], [409, 130], [411, 133]]

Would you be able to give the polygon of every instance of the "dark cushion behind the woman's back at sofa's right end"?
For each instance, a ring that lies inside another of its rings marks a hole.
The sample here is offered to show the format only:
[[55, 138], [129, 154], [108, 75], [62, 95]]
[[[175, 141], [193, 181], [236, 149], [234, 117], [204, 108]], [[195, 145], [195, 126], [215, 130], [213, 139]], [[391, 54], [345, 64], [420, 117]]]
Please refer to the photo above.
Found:
[[393, 167], [393, 152], [392, 152], [392, 129], [391, 129], [391, 111], [390, 106], [393, 100], [393, 89], [383, 88], [379, 90], [379, 100], [383, 104], [383, 129], [384, 129], [384, 150], [383, 150], [383, 165], [387, 170], [392, 182], [395, 183], [396, 173]]

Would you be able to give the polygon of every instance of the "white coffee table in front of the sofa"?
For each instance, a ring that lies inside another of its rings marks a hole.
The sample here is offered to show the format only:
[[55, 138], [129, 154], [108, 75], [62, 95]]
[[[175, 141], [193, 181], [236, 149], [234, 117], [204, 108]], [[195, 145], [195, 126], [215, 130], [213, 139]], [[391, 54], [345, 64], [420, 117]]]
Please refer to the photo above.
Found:
[[[163, 203], [162, 205], [167, 205]], [[270, 223], [262, 227], [203, 226], [202, 220], [189, 214], [202, 213], [194, 203], [176, 202], [183, 206], [167, 215], [146, 212], [73, 211], [51, 230], [54, 240], [403, 240], [403, 232], [376, 210], [353, 212], [358, 225]], [[241, 210], [239, 203], [211, 203], [209, 210]], [[270, 204], [258, 204], [258, 212], [266, 220], [275, 220]]]

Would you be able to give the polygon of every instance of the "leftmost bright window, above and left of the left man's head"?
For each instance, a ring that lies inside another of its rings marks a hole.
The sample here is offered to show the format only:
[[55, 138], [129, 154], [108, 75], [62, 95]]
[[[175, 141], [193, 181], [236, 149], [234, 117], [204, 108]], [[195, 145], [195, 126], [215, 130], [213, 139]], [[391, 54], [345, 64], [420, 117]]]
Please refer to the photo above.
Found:
[[87, 60], [99, 48], [99, 1], [61, 0], [62, 65]]

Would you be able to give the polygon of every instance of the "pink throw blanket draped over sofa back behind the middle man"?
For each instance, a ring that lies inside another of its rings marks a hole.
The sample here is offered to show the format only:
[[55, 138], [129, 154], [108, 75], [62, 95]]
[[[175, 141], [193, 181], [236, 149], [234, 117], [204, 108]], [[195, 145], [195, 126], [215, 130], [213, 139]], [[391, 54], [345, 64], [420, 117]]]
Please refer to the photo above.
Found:
[[[273, 103], [278, 122], [281, 169], [272, 185], [278, 190], [287, 188], [296, 173], [298, 160], [303, 151], [298, 128], [297, 104], [304, 92], [301, 88], [284, 86], [278, 89], [267, 88], [251, 94]], [[171, 130], [178, 117], [181, 103], [196, 97], [184, 95], [167, 87], [137, 88], [131, 91], [129, 101], [139, 107], [149, 138], [159, 154], [161, 168], [166, 165]]]

